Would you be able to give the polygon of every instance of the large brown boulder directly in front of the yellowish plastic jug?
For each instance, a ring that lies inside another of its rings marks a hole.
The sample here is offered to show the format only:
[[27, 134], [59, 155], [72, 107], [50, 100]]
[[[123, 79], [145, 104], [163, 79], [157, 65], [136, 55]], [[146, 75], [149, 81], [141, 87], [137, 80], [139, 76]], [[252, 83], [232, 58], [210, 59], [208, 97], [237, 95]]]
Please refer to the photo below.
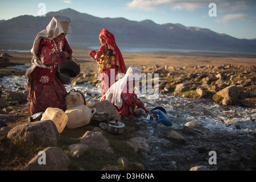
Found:
[[44, 146], [56, 146], [60, 134], [51, 120], [44, 120], [15, 126], [9, 131], [7, 138], [28, 143], [40, 143]]

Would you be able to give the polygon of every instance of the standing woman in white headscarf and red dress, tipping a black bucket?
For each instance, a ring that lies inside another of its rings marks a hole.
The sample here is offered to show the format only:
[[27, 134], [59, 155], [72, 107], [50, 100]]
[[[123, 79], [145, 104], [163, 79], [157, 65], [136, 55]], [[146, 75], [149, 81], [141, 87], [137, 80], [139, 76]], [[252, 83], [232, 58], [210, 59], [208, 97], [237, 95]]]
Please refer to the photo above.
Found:
[[65, 16], [54, 16], [46, 30], [40, 31], [31, 49], [31, 67], [25, 73], [27, 100], [31, 102], [31, 115], [57, 107], [65, 111], [67, 90], [57, 78], [58, 64], [71, 59], [72, 49], [66, 35], [71, 33], [71, 20]]

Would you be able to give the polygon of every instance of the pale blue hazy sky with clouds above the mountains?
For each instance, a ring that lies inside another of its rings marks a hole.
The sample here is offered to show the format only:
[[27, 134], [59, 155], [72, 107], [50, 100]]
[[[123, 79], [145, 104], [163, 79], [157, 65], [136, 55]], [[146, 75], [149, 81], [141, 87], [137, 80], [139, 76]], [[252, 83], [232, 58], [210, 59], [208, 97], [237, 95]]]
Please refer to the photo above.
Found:
[[[151, 19], [158, 24], [209, 28], [240, 39], [256, 38], [255, 0], [0, 0], [0, 20], [38, 16], [43, 12], [40, 3], [44, 3], [46, 13], [71, 8], [100, 18]], [[209, 7], [210, 3], [216, 6]]]

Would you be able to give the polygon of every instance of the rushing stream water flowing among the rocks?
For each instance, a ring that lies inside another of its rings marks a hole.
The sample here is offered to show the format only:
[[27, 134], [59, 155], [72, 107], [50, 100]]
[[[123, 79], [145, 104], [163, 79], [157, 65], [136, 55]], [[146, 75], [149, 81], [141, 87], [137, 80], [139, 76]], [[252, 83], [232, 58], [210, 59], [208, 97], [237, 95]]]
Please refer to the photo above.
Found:
[[[13, 91], [26, 88], [25, 83], [24, 76], [5, 76], [0, 80], [0, 84], [5, 86], [5, 89]], [[101, 97], [96, 86], [88, 83], [65, 86], [68, 92], [76, 89], [86, 93], [86, 104], [95, 104]], [[218, 169], [217, 166], [209, 166], [209, 150], [205, 149], [204, 154], [201, 154], [202, 146], [217, 149], [218, 154], [222, 156], [218, 160], [221, 162], [228, 163], [225, 156], [231, 154], [230, 148], [235, 148], [237, 152], [242, 152], [243, 156], [250, 158], [250, 154], [246, 152], [249, 152], [255, 144], [254, 134], [251, 133], [256, 131], [256, 109], [221, 106], [209, 99], [181, 98], [171, 94], [160, 94], [155, 100], [147, 94], [138, 94], [138, 97], [148, 110], [155, 106], [163, 106], [172, 121], [172, 126], [167, 127], [148, 123], [144, 115], [137, 119], [141, 129], [134, 136], [143, 137], [148, 144], [149, 150], [142, 152], [147, 170], [187, 170], [198, 165]], [[224, 122], [228, 119], [232, 122], [230, 125], [225, 125]], [[198, 133], [193, 136], [182, 133], [181, 128], [184, 125], [193, 127]], [[167, 139], [165, 135], [170, 130], [183, 135], [187, 142], [181, 144]]]

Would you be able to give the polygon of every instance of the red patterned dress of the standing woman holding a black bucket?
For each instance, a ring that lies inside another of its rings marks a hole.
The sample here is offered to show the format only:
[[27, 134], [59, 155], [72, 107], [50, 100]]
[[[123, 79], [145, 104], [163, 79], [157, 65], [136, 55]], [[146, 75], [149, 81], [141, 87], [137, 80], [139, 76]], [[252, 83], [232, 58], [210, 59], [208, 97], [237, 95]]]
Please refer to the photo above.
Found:
[[40, 40], [38, 56], [47, 68], [36, 67], [31, 73], [32, 82], [28, 94], [28, 100], [31, 101], [31, 115], [45, 111], [48, 107], [57, 107], [64, 111], [66, 109], [67, 90], [56, 76], [57, 65], [65, 61], [62, 51], [72, 55], [72, 49], [66, 38], [61, 43], [47, 38]]

